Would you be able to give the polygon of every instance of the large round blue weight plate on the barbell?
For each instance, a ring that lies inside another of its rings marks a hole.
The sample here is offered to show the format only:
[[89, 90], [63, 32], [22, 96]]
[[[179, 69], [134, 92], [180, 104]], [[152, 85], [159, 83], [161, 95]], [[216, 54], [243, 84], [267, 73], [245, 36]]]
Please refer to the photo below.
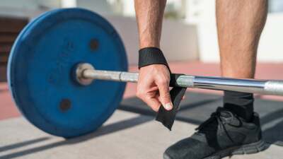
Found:
[[71, 69], [127, 71], [120, 36], [107, 20], [81, 8], [42, 14], [18, 35], [8, 61], [8, 84], [19, 110], [47, 133], [74, 137], [96, 130], [122, 100], [125, 83], [79, 86]]

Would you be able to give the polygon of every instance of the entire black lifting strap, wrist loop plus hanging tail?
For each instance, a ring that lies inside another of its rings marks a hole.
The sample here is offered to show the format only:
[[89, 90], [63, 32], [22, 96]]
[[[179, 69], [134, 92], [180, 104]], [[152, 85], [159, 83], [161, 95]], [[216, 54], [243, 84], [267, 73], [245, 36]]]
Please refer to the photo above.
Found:
[[[140, 49], [139, 69], [143, 66], [148, 66], [151, 64], [164, 64], [168, 67], [168, 70], [171, 73], [171, 70], [161, 49], [158, 49], [156, 47], [146, 47], [144, 49]], [[180, 76], [180, 74], [171, 73], [170, 86], [173, 88], [170, 90], [170, 96], [173, 102], [173, 109], [168, 111], [165, 110], [163, 105], [161, 105], [156, 116], [156, 121], [161, 122], [169, 130], [171, 130], [173, 126], [175, 116], [179, 110], [180, 101], [182, 100], [183, 95], [185, 94], [185, 90], [187, 89], [177, 85], [176, 79], [178, 78], [178, 76]]]

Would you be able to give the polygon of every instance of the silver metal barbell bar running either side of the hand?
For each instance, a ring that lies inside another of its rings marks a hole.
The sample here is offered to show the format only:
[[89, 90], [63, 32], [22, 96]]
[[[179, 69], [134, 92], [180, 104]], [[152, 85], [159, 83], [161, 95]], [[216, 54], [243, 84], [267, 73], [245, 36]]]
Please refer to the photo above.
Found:
[[[139, 73], [125, 71], [101, 71], [85, 69], [83, 78], [107, 81], [137, 83]], [[214, 76], [180, 75], [176, 85], [186, 88], [204, 88], [212, 90], [233, 90], [245, 93], [259, 93], [265, 95], [283, 95], [283, 81], [223, 78]]]

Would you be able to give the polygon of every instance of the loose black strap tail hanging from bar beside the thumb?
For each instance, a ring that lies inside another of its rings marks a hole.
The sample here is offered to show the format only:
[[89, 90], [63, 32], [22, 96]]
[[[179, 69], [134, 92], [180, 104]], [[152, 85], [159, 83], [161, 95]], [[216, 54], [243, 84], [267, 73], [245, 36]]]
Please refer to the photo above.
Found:
[[156, 120], [158, 122], [161, 122], [169, 130], [171, 130], [173, 126], [175, 116], [179, 110], [180, 102], [183, 96], [185, 95], [185, 90], [187, 89], [187, 88], [178, 86], [176, 80], [180, 75], [183, 75], [183, 74], [171, 73], [170, 86], [173, 88], [170, 90], [170, 96], [173, 102], [173, 109], [168, 111], [163, 107], [163, 105], [161, 105], [161, 107], [158, 110], [157, 116], [156, 116]]

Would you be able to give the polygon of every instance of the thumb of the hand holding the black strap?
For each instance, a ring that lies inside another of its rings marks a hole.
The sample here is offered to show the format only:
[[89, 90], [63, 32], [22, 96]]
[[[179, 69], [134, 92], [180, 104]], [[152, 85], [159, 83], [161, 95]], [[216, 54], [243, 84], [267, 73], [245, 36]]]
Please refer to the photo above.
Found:
[[171, 96], [169, 93], [169, 84], [168, 85], [158, 85], [158, 90], [160, 94], [160, 102], [166, 110], [172, 110], [173, 104], [171, 102]]

